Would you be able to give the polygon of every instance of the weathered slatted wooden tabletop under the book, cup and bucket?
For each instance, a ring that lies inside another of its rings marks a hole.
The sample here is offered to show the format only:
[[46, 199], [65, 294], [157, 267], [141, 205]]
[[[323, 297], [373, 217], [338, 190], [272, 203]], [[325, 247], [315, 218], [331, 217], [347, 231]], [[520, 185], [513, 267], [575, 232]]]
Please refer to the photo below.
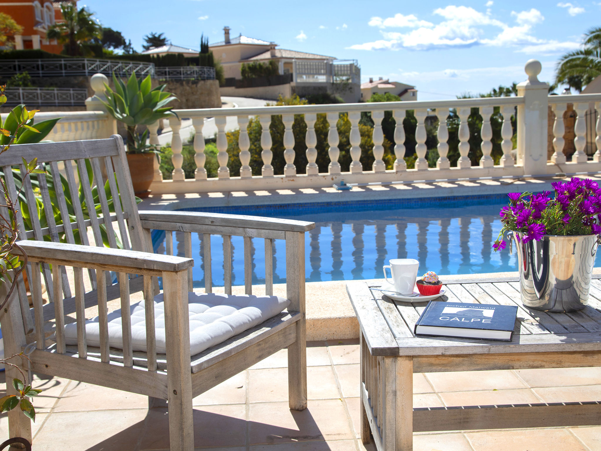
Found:
[[[599, 276], [597, 276], [599, 277]], [[522, 304], [516, 278], [469, 279], [445, 284], [439, 301], [517, 305], [511, 342], [415, 336], [428, 302], [394, 301], [371, 290], [383, 280], [347, 282], [347, 293], [372, 355], [442, 355], [601, 350], [601, 280], [591, 281], [588, 305], [575, 313], [538, 311]]]

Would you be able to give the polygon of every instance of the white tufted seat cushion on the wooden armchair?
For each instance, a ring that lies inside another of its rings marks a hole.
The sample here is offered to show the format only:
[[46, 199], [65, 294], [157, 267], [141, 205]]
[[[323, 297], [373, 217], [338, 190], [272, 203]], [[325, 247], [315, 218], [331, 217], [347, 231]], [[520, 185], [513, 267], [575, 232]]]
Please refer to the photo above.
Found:
[[[280, 296], [224, 295], [216, 293], [188, 293], [190, 318], [190, 352], [198, 354], [218, 345], [230, 337], [255, 327], [281, 313], [290, 301]], [[132, 348], [146, 351], [146, 324], [144, 302], [131, 307]], [[154, 296], [154, 324], [156, 327], [156, 352], [165, 354], [165, 311], [163, 294]], [[109, 345], [123, 349], [121, 309], [108, 314]], [[87, 343], [100, 346], [98, 317], [85, 321]], [[77, 345], [76, 323], [65, 326], [67, 345]]]

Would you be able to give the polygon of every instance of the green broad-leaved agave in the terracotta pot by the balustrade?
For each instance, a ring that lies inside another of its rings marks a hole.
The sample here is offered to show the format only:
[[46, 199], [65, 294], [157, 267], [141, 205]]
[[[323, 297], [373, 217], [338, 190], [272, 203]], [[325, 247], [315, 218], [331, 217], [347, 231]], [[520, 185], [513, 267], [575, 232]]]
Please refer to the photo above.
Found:
[[165, 106], [177, 97], [163, 91], [166, 85], [160, 85], [151, 89], [150, 75], [146, 78], [137, 79], [132, 73], [127, 84], [115, 77], [113, 73], [115, 90], [105, 84], [106, 102], [96, 97], [106, 106], [109, 114], [127, 126], [127, 152], [148, 152], [145, 140], [136, 135], [136, 126], [150, 125], [159, 119], [171, 117], [175, 113], [171, 106]]

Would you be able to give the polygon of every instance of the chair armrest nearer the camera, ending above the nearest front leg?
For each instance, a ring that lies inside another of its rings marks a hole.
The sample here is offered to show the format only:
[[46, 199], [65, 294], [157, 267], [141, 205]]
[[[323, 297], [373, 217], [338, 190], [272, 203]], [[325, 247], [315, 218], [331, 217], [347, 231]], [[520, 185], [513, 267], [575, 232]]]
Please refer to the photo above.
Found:
[[[194, 260], [186, 257], [123, 249], [33, 240], [17, 241], [17, 244], [23, 248], [29, 260], [65, 266], [119, 272], [136, 270], [135, 274], [150, 275], [160, 275], [163, 271], [179, 272], [194, 266]], [[21, 255], [18, 248], [15, 254]]]

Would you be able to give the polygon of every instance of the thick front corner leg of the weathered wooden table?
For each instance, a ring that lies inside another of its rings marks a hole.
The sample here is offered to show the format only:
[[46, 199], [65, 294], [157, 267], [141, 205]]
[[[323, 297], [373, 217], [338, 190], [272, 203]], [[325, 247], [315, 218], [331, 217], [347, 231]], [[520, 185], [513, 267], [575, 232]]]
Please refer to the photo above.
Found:
[[413, 450], [413, 358], [383, 358], [382, 448]]

